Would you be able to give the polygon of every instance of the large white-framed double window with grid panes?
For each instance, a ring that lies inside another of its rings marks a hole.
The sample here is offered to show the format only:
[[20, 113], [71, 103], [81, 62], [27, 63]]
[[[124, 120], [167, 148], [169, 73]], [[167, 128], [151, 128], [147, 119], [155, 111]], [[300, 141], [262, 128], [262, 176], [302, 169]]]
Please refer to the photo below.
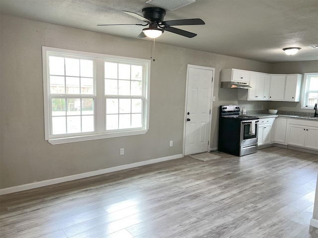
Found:
[[145, 134], [150, 60], [42, 47], [45, 140]]

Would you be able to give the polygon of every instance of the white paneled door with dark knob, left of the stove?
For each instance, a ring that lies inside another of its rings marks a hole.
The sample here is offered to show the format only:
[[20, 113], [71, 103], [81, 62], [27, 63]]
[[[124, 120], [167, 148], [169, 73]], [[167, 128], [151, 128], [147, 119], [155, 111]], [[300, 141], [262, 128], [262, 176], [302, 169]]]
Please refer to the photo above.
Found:
[[214, 68], [188, 65], [184, 155], [209, 150]]

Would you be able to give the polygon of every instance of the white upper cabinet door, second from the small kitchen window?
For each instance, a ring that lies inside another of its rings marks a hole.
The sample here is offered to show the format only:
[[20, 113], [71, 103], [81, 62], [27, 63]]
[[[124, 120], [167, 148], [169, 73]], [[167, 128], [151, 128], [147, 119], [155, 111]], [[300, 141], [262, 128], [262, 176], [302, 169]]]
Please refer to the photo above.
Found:
[[271, 75], [269, 100], [284, 101], [286, 75]]

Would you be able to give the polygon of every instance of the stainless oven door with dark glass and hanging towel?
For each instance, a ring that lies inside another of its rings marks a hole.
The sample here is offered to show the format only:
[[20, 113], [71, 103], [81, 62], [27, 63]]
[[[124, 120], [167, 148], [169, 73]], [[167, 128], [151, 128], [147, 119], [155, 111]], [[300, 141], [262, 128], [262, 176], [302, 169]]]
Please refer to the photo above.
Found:
[[240, 122], [240, 145], [257, 143], [258, 120], [242, 120]]

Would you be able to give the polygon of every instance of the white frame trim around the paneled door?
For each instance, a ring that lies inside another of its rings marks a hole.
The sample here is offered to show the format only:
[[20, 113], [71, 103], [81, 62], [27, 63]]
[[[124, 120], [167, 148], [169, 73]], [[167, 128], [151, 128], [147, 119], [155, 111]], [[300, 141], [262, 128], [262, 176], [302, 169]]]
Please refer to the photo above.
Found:
[[208, 148], [207, 151], [210, 152], [210, 147], [211, 147], [211, 129], [212, 129], [212, 106], [213, 106], [213, 91], [214, 91], [214, 79], [215, 79], [215, 68], [212, 67], [207, 67], [207, 66], [200, 66], [200, 65], [194, 65], [194, 64], [187, 64], [187, 76], [186, 76], [186, 85], [185, 85], [185, 102], [184, 102], [184, 118], [183, 118], [183, 156], [185, 154], [185, 124], [186, 124], [186, 117], [187, 117], [187, 99], [188, 99], [188, 80], [189, 80], [189, 68], [197, 68], [197, 69], [207, 69], [207, 70], [212, 70], [212, 88], [211, 88], [211, 104], [210, 104], [210, 118], [209, 118], [209, 143], [208, 143]]

